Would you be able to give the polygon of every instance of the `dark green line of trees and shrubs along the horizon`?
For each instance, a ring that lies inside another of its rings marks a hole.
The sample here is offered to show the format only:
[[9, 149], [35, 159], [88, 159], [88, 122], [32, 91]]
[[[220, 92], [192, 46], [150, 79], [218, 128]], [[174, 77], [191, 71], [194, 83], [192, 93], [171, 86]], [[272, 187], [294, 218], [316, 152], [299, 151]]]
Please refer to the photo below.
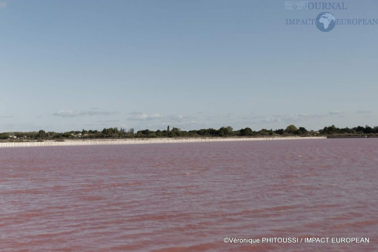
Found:
[[64, 133], [49, 131], [41, 129], [32, 132], [4, 132], [0, 133], [0, 139], [70, 139], [70, 138], [141, 138], [141, 137], [227, 137], [227, 136], [315, 136], [315, 135], [366, 135], [378, 134], [378, 126], [357, 126], [353, 128], [338, 128], [334, 125], [324, 127], [318, 131], [307, 130], [304, 127], [296, 127], [289, 125], [285, 129], [266, 129], [254, 131], [249, 127], [239, 130], [233, 130], [231, 126], [214, 128], [202, 128], [194, 130], [181, 130], [177, 127], [172, 129], [167, 127], [164, 130], [139, 130], [134, 133], [134, 129], [111, 127], [104, 128], [102, 131], [98, 130], [81, 130], [81, 131], [67, 131]]

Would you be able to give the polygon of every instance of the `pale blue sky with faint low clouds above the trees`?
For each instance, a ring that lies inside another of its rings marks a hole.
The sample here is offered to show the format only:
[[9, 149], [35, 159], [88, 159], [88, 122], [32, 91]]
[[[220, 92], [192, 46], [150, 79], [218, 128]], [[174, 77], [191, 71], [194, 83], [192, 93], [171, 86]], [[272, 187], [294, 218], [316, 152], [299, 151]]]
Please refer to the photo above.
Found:
[[[378, 18], [377, 1], [344, 2], [328, 11]], [[378, 25], [286, 25], [322, 11], [0, 0], [0, 132], [378, 126]]]

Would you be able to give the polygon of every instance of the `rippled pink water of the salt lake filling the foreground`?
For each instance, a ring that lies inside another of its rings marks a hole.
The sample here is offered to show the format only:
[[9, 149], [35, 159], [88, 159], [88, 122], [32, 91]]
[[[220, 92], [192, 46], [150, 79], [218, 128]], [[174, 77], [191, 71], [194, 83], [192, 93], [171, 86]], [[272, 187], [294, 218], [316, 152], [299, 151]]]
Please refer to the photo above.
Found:
[[0, 251], [378, 251], [377, 185], [378, 139], [0, 149]]

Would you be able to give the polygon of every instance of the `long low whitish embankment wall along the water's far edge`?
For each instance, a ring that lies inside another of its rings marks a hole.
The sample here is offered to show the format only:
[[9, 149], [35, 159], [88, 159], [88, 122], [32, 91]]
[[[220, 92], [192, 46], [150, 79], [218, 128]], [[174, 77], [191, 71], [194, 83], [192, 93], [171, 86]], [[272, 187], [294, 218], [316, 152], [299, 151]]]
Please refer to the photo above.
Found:
[[12, 147], [48, 147], [48, 146], [94, 146], [94, 145], [134, 145], [134, 144], [166, 144], [166, 143], [205, 143], [205, 142], [241, 142], [241, 141], [272, 141], [272, 140], [305, 140], [326, 139], [326, 136], [288, 136], [288, 137], [190, 137], [190, 138], [131, 138], [131, 139], [75, 139], [64, 141], [29, 141], [0, 142], [0, 148]]

